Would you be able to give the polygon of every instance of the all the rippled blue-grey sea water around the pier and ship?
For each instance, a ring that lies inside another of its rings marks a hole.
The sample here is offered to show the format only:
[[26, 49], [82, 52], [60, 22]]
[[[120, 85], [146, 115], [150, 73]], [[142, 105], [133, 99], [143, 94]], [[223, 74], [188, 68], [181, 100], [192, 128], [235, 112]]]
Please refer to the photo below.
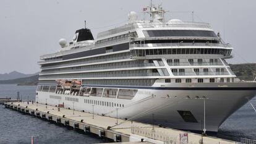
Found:
[[[22, 100], [35, 101], [35, 90], [35, 86], [0, 85], [0, 96], [17, 98], [17, 91], [20, 91]], [[254, 100], [256, 106], [256, 98]], [[241, 137], [256, 139], [255, 124], [256, 113], [250, 104], [245, 104], [221, 125], [217, 137], [238, 141]], [[65, 127], [0, 106], [0, 143], [30, 143], [32, 135], [35, 143], [107, 142], [94, 135], [68, 130]]]

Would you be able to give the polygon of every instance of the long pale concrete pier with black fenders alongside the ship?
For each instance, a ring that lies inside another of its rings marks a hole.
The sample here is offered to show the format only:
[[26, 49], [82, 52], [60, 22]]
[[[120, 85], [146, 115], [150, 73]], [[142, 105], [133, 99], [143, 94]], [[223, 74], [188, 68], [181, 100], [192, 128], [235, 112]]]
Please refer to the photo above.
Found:
[[180, 135], [186, 134], [188, 143], [236, 143], [215, 137], [202, 137], [197, 133], [158, 127], [134, 121], [125, 121], [114, 117], [99, 116], [72, 109], [58, 108], [45, 104], [32, 102], [5, 103], [6, 108], [11, 108], [26, 114], [31, 114], [47, 121], [56, 122], [74, 129], [83, 130], [85, 133], [95, 133], [99, 137], [106, 137], [114, 142], [144, 142], [148, 143], [181, 143]]

